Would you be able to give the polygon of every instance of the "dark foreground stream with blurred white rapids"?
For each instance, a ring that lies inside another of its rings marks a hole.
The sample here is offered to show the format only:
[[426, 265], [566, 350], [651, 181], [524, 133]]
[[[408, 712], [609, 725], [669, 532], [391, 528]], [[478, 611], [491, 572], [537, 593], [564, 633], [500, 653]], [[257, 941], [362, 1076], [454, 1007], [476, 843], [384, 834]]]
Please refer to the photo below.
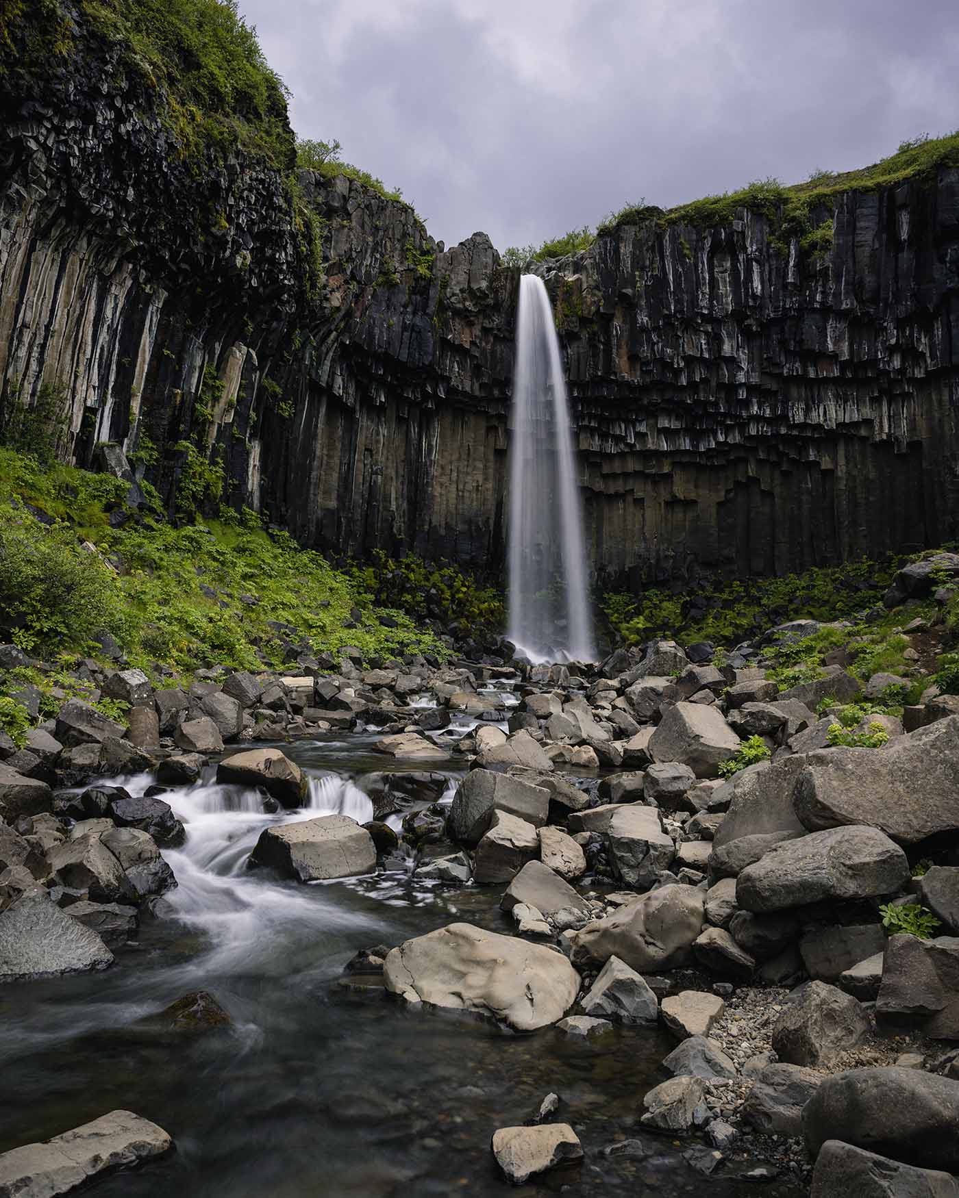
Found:
[[[587, 1162], [519, 1193], [701, 1190], [672, 1142], [638, 1126], [671, 1047], [661, 1031], [617, 1030], [591, 1045], [553, 1029], [509, 1035], [342, 984], [361, 946], [457, 919], [508, 931], [501, 888], [445, 890], [409, 869], [302, 887], [247, 869], [270, 824], [322, 811], [369, 817], [355, 782], [384, 768], [370, 740], [284, 746], [310, 774], [310, 805], [298, 812], [265, 813], [236, 786], [167, 794], [187, 840], [164, 853], [179, 881], [165, 916], [144, 919], [137, 945], [117, 950], [105, 973], [0, 987], [0, 1151], [123, 1107], [165, 1127], [176, 1152], [97, 1181], [97, 1198], [505, 1198], [513, 1191], [489, 1137], [530, 1119], [554, 1090]], [[126, 785], [143, 793], [147, 782]], [[200, 988], [229, 1011], [230, 1028], [173, 1033], [155, 1018]], [[645, 1160], [604, 1155], [638, 1135]], [[753, 1192], [716, 1176], [708, 1185], [719, 1198]]]

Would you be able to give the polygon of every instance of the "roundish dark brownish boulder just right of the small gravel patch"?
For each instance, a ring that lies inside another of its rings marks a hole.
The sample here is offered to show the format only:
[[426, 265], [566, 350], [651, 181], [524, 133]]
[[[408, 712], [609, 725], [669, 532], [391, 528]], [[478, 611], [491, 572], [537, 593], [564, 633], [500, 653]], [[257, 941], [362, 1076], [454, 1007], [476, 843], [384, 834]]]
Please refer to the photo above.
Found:
[[869, 1017], [851, 994], [810, 981], [789, 997], [772, 1031], [773, 1052], [791, 1065], [830, 1065], [869, 1030]]

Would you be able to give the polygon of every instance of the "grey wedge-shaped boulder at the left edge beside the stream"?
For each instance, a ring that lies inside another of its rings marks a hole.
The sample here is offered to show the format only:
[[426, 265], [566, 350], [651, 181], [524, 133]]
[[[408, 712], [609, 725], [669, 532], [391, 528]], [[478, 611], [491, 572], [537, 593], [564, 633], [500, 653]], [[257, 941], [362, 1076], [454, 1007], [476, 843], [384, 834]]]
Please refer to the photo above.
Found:
[[101, 937], [41, 889], [29, 890], [0, 913], [0, 981], [88, 973], [110, 964], [113, 954]]

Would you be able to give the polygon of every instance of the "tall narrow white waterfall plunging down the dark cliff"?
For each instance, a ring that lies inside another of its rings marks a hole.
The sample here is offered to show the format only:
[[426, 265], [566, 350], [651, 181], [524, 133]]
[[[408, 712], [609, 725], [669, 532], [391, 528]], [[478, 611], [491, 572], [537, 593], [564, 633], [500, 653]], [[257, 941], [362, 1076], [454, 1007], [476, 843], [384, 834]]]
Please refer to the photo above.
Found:
[[591, 661], [583, 513], [560, 343], [543, 280], [519, 280], [509, 446], [509, 640], [533, 661]]

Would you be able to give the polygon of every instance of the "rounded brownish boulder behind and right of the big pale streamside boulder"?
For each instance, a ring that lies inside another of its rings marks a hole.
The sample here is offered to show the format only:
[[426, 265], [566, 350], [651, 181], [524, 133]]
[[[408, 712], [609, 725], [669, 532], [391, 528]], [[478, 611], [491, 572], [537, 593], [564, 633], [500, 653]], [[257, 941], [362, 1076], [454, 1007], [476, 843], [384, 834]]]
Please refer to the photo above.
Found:
[[569, 933], [574, 961], [619, 957], [637, 973], [664, 973], [686, 964], [702, 931], [702, 891], [665, 885], [611, 915]]

